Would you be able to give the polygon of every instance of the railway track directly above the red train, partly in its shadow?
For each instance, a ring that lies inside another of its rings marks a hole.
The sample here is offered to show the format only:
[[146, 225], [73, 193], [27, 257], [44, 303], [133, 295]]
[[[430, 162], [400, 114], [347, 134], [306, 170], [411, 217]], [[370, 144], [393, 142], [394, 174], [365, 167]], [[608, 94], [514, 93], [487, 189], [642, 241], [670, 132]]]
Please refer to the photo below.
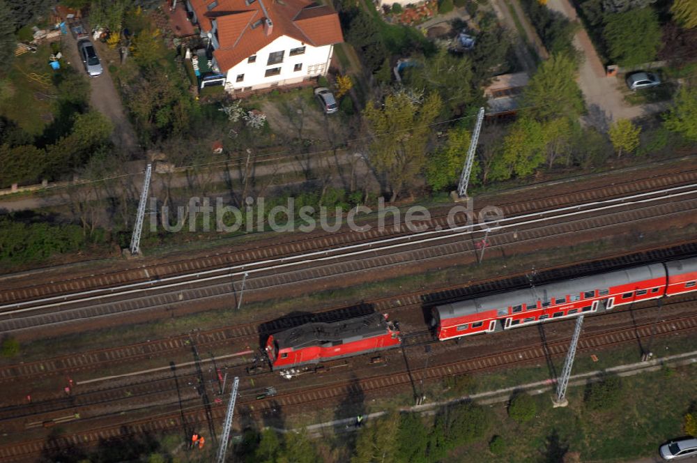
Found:
[[[536, 284], [544, 284], [567, 278], [577, 278], [592, 273], [613, 271], [627, 266], [669, 259], [679, 259], [697, 255], [697, 242], [687, 242], [671, 248], [654, 248], [635, 252], [631, 255], [618, 255], [600, 261], [579, 262], [573, 266], [562, 268], [538, 268], [535, 275]], [[196, 331], [160, 340], [139, 342], [120, 347], [95, 349], [75, 354], [46, 358], [30, 362], [17, 363], [0, 367], [0, 384], [10, 384], [16, 381], [31, 381], [41, 377], [61, 374], [78, 374], [79, 372], [94, 371], [115, 367], [118, 365], [133, 365], [139, 361], [153, 358], [171, 357], [176, 353], [190, 354], [192, 338], [201, 349], [222, 347], [231, 349], [233, 344], [245, 344], [254, 349], [259, 342], [259, 336], [282, 331], [286, 328], [309, 323], [310, 321], [335, 321], [357, 317], [369, 312], [390, 313], [399, 317], [397, 311], [419, 310], [451, 301], [459, 301], [471, 296], [481, 296], [499, 291], [527, 287], [530, 284], [528, 275], [510, 275], [509, 278], [472, 282], [470, 284], [449, 285], [429, 289], [427, 291], [411, 291], [399, 296], [387, 296], [365, 301], [358, 306], [330, 308], [323, 312], [304, 314], [296, 317], [282, 317], [250, 324], [236, 324], [208, 331]]]

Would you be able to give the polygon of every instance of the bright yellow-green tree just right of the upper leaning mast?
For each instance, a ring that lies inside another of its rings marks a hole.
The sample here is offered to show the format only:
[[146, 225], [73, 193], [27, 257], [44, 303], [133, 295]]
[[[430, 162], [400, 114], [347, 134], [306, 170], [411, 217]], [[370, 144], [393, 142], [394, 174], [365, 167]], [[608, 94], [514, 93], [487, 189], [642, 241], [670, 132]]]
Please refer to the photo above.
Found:
[[503, 152], [491, 167], [489, 178], [507, 180], [513, 174], [526, 177], [545, 160], [545, 139], [542, 124], [530, 116], [518, 119], [503, 142]]

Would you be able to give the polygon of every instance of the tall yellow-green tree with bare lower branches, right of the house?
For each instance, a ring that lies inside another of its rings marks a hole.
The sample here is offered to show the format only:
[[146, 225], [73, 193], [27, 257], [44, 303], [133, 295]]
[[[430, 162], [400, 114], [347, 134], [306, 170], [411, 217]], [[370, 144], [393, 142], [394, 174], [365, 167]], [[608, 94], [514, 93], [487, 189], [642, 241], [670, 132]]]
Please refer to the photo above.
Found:
[[385, 98], [385, 105], [367, 105], [363, 115], [372, 132], [370, 162], [385, 177], [395, 201], [426, 164], [431, 123], [441, 112], [441, 98], [431, 93], [423, 103], [406, 92]]

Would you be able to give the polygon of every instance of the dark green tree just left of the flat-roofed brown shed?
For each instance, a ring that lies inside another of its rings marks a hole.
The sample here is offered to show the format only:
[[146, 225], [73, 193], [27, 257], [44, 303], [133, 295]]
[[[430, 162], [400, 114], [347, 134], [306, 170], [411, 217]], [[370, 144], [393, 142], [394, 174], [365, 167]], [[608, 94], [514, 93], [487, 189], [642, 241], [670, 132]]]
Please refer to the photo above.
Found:
[[472, 85], [472, 65], [470, 59], [455, 56], [445, 49], [429, 58], [417, 60], [417, 66], [406, 68], [404, 77], [412, 89], [437, 92], [443, 101], [445, 116], [460, 114], [461, 107], [475, 101], [480, 96], [479, 89]]

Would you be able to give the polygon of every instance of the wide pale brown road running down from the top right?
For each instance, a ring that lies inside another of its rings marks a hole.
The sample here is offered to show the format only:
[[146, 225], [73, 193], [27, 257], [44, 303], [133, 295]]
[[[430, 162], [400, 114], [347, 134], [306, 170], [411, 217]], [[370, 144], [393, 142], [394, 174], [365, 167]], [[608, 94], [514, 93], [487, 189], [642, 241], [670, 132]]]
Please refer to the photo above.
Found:
[[[578, 20], [576, 10], [569, 0], [548, 0], [547, 6], [551, 10], [562, 13], [571, 21]], [[627, 104], [620, 91], [624, 83], [617, 77], [606, 77], [604, 66], [583, 27], [579, 27], [574, 36], [574, 46], [583, 53], [585, 58], [579, 69], [579, 86], [585, 98], [585, 105], [588, 107], [585, 123], [600, 130], [606, 130], [611, 121], [634, 119], [662, 111], [666, 107], [664, 103], [637, 106]]]

